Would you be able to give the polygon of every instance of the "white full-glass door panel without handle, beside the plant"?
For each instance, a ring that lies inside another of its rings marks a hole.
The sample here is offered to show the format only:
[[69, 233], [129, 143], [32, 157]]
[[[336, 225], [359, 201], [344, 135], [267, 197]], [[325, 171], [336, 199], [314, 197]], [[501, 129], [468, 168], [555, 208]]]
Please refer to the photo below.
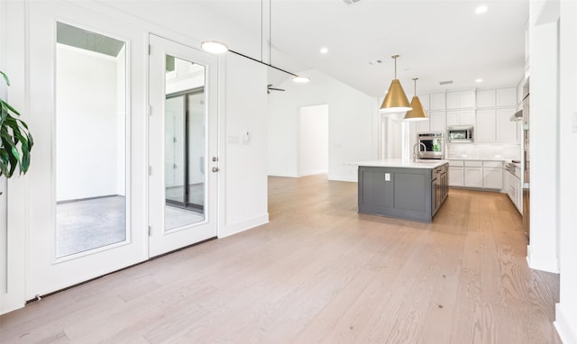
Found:
[[142, 32], [63, 2], [29, 6], [35, 144], [11, 220], [28, 228], [27, 299], [149, 257]]

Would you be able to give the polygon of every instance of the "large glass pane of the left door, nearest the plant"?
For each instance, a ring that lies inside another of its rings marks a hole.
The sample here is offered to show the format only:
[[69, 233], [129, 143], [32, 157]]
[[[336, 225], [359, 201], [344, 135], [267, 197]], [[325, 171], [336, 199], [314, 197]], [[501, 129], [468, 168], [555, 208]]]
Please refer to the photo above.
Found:
[[124, 41], [57, 23], [56, 258], [123, 242]]

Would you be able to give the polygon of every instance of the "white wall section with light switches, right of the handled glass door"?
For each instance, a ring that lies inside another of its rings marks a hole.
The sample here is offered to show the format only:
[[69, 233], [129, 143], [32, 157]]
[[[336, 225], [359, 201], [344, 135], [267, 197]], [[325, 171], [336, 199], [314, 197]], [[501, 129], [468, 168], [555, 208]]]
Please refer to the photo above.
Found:
[[234, 54], [227, 55], [225, 63], [225, 128], [221, 132], [225, 144], [219, 163], [225, 176], [224, 195], [219, 194], [224, 201], [221, 238], [269, 222], [267, 69]]

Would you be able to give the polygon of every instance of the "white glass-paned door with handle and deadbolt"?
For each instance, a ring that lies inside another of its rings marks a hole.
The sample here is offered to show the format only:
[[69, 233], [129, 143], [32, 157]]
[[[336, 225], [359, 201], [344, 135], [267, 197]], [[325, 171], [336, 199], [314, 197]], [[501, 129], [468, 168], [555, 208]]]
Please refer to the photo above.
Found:
[[217, 231], [217, 59], [150, 35], [150, 256]]

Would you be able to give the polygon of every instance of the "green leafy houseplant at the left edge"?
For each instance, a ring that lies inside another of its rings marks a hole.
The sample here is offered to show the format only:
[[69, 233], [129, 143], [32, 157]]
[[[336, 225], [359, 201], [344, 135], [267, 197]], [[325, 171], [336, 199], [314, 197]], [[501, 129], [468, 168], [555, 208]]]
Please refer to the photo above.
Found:
[[[10, 80], [0, 71], [6, 85]], [[34, 141], [28, 130], [28, 125], [18, 118], [14, 107], [0, 98], [2, 113], [0, 114], [0, 177], [12, 177], [16, 167], [20, 174], [25, 174], [30, 167], [30, 152]]]

